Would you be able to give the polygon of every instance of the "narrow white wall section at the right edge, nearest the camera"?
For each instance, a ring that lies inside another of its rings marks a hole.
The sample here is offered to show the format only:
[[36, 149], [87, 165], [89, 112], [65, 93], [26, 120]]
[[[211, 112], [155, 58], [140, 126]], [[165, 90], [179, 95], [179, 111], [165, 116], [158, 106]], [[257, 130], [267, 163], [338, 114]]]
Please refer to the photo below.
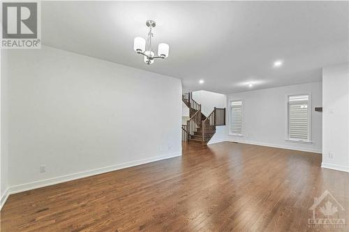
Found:
[[322, 68], [322, 83], [322, 167], [349, 171], [349, 63]]

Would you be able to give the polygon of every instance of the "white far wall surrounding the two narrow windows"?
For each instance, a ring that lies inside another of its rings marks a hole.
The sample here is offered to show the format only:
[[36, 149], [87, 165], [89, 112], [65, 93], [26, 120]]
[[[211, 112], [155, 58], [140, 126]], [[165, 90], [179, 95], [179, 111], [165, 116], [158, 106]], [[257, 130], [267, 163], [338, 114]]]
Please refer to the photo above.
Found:
[[[286, 96], [303, 93], [311, 93], [312, 144], [285, 141], [288, 130]], [[228, 95], [228, 106], [231, 100], [243, 100], [244, 121], [242, 126], [243, 137], [228, 135], [229, 141], [321, 153], [322, 114], [314, 111], [314, 107], [322, 106], [321, 82], [230, 94]], [[230, 128], [229, 120], [228, 128]]]

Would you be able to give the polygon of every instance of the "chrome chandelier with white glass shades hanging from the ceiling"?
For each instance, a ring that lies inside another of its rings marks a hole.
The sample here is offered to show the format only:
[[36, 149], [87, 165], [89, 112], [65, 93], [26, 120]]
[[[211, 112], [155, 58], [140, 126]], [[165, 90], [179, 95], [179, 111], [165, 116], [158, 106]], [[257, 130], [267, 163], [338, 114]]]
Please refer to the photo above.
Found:
[[154, 33], [151, 32], [151, 29], [156, 26], [156, 23], [153, 20], [147, 20], [145, 24], [149, 27], [147, 41], [145, 41], [142, 37], [136, 37], [133, 41], [133, 49], [138, 54], [142, 54], [144, 56], [144, 62], [149, 65], [154, 63], [154, 59], [156, 58], [165, 59], [168, 57], [168, 50], [170, 49], [170, 46], [168, 46], [166, 43], [159, 44], [158, 55], [156, 56], [155, 52], [151, 51], [151, 37], [154, 37]]

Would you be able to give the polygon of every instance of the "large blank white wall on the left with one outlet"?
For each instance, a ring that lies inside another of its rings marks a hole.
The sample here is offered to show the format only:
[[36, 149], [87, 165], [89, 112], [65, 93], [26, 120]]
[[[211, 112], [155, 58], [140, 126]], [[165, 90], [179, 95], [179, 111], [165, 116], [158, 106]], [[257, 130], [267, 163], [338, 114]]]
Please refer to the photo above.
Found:
[[6, 56], [10, 192], [181, 154], [179, 79], [52, 47]]

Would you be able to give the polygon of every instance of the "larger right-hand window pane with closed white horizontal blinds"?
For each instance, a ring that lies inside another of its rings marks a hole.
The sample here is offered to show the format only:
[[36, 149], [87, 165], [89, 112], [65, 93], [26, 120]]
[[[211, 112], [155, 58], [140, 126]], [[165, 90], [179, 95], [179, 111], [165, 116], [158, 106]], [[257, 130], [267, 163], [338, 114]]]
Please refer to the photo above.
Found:
[[288, 96], [288, 139], [310, 140], [309, 95]]

